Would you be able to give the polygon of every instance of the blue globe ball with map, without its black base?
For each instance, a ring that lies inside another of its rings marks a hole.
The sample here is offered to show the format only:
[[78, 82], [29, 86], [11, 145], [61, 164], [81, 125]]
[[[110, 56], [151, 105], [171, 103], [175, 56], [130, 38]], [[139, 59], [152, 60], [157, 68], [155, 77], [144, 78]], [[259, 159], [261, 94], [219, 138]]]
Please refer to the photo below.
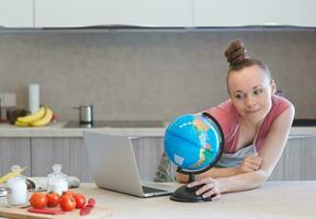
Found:
[[210, 117], [187, 114], [168, 126], [165, 153], [181, 169], [203, 170], [218, 160], [222, 141], [219, 129]]

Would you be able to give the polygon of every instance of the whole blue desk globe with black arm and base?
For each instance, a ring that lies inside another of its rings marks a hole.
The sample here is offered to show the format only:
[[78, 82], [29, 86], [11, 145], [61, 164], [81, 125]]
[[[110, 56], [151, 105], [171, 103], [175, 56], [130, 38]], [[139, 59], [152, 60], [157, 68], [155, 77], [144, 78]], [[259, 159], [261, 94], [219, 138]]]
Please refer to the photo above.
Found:
[[[190, 183], [195, 174], [216, 164], [223, 152], [224, 136], [219, 124], [210, 114], [187, 114], [168, 126], [163, 145], [166, 157], [178, 166], [178, 172], [189, 174]], [[172, 200], [206, 200], [195, 195], [199, 187], [190, 189], [184, 186], [179, 189], [170, 197]]]

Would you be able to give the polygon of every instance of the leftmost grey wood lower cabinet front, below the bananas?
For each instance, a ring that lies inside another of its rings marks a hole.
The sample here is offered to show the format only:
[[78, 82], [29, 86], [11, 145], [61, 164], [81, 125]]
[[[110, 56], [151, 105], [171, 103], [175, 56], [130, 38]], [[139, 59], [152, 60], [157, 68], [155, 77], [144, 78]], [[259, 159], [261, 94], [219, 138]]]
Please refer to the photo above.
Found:
[[30, 138], [0, 138], [0, 176], [10, 172], [12, 165], [26, 166], [22, 174], [31, 176]]

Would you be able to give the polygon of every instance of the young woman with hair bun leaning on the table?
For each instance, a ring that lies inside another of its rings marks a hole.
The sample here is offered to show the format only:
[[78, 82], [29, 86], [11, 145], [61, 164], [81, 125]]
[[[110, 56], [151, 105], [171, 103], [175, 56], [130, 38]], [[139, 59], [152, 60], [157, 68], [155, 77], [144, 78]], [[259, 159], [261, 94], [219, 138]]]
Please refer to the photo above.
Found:
[[[275, 95], [268, 67], [249, 58], [244, 44], [226, 49], [229, 62], [227, 89], [230, 99], [206, 110], [224, 131], [224, 153], [215, 168], [196, 176], [188, 186], [204, 184], [196, 195], [214, 196], [261, 186], [279, 161], [294, 117], [293, 105]], [[188, 176], [177, 173], [179, 182]]]

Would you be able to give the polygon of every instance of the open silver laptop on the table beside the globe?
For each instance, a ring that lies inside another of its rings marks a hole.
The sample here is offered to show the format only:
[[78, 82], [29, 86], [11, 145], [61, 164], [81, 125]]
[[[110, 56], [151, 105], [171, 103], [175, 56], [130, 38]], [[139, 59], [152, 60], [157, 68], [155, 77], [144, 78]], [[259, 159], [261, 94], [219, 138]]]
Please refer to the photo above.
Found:
[[140, 181], [131, 137], [83, 131], [83, 140], [99, 187], [139, 197], [174, 192], [174, 186]]

